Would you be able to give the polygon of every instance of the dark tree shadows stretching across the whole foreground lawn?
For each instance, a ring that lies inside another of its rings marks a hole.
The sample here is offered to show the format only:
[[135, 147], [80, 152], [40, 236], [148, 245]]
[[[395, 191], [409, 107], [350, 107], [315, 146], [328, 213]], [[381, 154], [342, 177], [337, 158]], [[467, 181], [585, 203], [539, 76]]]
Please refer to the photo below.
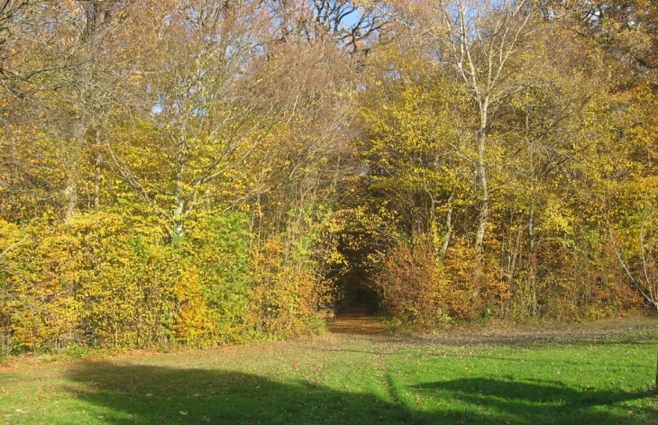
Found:
[[[233, 371], [86, 363], [69, 370], [70, 393], [98, 407], [99, 423], [618, 423], [626, 409], [591, 411], [646, 394], [579, 392], [560, 383], [458, 379], [407, 388], [421, 400], [442, 392], [473, 407], [424, 411], [307, 381]], [[444, 398], [445, 400], [445, 398]], [[447, 404], [447, 403], [445, 403]], [[475, 405], [480, 406], [478, 408]], [[451, 404], [452, 406], [452, 404]], [[568, 419], [568, 420], [567, 420]]]

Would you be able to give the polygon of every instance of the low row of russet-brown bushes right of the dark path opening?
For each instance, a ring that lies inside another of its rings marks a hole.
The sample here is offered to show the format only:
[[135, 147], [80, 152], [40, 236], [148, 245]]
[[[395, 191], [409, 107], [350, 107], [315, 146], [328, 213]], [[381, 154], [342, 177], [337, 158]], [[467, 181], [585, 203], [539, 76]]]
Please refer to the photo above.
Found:
[[[640, 308], [635, 289], [612, 258], [597, 258], [574, 255], [564, 263], [566, 273], [526, 267], [510, 278], [495, 258], [478, 258], [462, 240], [454, 240], [441, 258], [428, 239], [419, 238], [384, 254], [371, 285], [393, 322], [416, 330], [453, 321], [598, 320]], [[575, 275], [574, 269], [582, 273]]]

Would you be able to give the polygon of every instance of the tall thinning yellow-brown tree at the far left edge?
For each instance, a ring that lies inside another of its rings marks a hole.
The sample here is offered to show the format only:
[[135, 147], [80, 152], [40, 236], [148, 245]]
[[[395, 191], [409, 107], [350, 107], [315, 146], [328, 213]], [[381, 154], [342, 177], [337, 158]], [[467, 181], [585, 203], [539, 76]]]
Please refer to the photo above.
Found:
[[7, 143], [25, 143], [8, 149], [6, 159], [13, 180], [20, 180], [10, 189], [14, 199], [48, 199], [40, 207], [66, 217], [79, 207], [98, 208], [100, 139], [118, 96], [114, 59], [120, 43], [114, 32], [126, 5], [27, 2], [14, 19], [14, 37], [5, 42], [14, 52], [6, 60], [5, 94], [14, 99], [7, 107], [17, 109], [4, 136]]

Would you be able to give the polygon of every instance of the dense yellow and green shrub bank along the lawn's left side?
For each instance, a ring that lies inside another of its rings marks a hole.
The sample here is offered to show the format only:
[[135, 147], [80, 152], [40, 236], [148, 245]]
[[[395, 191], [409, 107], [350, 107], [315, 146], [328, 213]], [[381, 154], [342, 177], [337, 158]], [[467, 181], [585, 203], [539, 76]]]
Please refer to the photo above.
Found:
[[158, 222], [112, 211], [22, 230], [3, 223], [3, 331], [41, 350], [244, 341], [245, 220], [208, 215], [175, 245]]

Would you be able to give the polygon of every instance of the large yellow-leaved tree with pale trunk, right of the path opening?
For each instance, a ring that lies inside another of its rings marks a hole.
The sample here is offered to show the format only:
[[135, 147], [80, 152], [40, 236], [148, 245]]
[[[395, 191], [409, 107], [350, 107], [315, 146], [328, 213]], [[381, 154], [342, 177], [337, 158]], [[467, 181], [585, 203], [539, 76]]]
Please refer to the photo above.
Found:
[[[604, 52], [584, 38], [564, 41], [573, 29], [562, 11], [501, 7], [482, 14], [447, 7], [441, 20], [417, 4], [403, 8], [405, 36], [370, 61], [370, 187], [398, 213], [412, 246], [433, 241], [446, 267], [436, 273], [449, 287], [479, 282], [462, 305], [562, 314], [554, 301], [566, 296], [560, 291], [571, 293], [565, 308], [572, 311], [597, 297], [625, 304], [622, 282], [596, 283], [618, 270], [593, 237], [602, 229], [589, 223], [600, 215], [585, 190], [609, 178], [611, 167], [611, 157], [595, 153], [610, 143], [608, 82], [596, 71]], [[440, 29], [452, 37], [438, 37]], [[467, 45], [454, 42], [466, 35]], [[557, 272], [567, 269], [574, 273]]]

